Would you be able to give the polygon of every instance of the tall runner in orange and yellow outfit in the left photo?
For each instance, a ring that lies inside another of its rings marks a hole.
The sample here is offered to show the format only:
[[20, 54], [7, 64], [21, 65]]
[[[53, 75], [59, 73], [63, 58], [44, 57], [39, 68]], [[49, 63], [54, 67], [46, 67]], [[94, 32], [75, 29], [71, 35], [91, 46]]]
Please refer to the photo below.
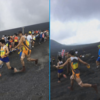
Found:
[[19, 36], [20, 36], [20, 41], [14, 49], [17, 49], [18, 47], [22, 46], [22, 54], [21, 54], [21, 63], [22, 63], [22, 66], [23, 66], [23, 69], [21, 70], [21, 72], [22, 72], [22, 71], [25, 71], [25, 62], [24, 62], [25, 56], [27, 57], [28, 61], [35, 61], [35, 64], [38, 63], [38, 59], [30, 58], [31, 50], [29, 48], [29, 42], [22, 35], [21, 31], [19, 32]]

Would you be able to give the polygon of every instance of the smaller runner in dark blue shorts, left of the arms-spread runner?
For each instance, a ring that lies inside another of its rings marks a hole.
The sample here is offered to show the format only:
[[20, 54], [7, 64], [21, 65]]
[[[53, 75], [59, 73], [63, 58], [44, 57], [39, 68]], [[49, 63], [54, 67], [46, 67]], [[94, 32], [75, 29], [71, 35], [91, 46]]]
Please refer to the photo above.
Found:
[[63, 67], [59, 67], [59, 65], [62, 65], [63, 61], [62, 61], [62, 57], [58, 57], [58, 63], [57, 66], [53, 65], [54, 67], [56, 67], [58, 69], [58, 83], [60, 83], [60, 79], [61, 79], [61, 75], [63, 75], [64, 78], [67, 78], [67, 76], [65, 74], [63, 74]]

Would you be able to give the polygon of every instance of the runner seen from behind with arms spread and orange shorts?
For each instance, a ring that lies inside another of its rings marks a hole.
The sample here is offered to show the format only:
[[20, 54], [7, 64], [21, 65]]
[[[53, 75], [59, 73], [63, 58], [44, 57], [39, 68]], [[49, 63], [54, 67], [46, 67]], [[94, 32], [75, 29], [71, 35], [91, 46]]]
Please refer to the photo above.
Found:
[[68, 64], [68, 62], [71, 63], [71, 68], [72, 68], [72, 76], [70, 77], [71, 79], [71, 87], [69, 87], [70, 90], [73, 90], [73, 84], [74, 84], [74, 80], [76, 80], [76, 82], [78, 83], [79, 86], [81, 87], [92, 87], [95, 89], [96, 92], [98, 92], [97, 90], [97, 85], [96, 84], [88, 84], [88, 83], [83, 83], [81, 78], [80, 78], [80, 71], [78, 69], [78, 62], [81, 62], [83, 64], [85, 64], [87, 67], [90, 66], [88, 63], [82, 61], [80, 58], [75, 57], [75, 51], [71, 50], [69, 52], [70, 54], [70, 58], [67, 59], [67, 61], [59, 66], [59, 67], [64, 67], [66, 64]]

